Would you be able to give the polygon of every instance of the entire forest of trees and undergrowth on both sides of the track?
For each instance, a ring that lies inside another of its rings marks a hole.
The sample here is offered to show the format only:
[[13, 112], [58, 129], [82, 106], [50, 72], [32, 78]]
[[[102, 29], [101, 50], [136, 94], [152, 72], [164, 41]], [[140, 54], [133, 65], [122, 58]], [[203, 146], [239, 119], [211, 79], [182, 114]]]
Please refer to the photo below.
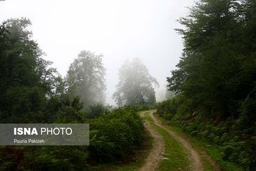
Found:
[[[105, 101], [103, 54], [77, 52], [62, 76], [44, 60], [29, 18], [1, 23], [0, 123], [87, 123], [90, 145], [0, 146], [0, 170], [101, 170], [133, 162], [138, 148], [154, 138], [145, 122], [165, 137], [155, 118], [141, 112], [152, 109], [166, 125], [216, 148], [220, 159], [209, 156], [221, 170], [235, 170], [225, 161], [255, 170], [256, 2], [200, 0], [179, 23], [183, 53], [166, 78], [171, 96], [156, 101], [159, 83], [135, 57], [118, 70], [116, 106]], [[164, 167], [159, 164], [159, 170], [172, 165]]]

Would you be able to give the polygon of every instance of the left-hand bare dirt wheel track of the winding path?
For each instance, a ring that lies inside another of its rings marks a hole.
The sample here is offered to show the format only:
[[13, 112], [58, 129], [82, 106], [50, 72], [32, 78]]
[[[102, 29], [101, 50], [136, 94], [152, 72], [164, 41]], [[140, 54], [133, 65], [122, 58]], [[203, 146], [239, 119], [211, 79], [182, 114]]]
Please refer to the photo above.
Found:
[[[142, 118], [144, 118], [144, 114], [147, 111], [142, 113]], [[164, 138], [160, 135], [154, 128], [153, 125], [149, 123], [149, 121], [144, 120], [144, 127], [149, 131], [151, 136], [153, 137], [153, 148], [149, 156], [146, 158], [146, 163], [140, 171], [154, 171], [157, 170], [157, 165], [162, 159], [162, 154], [164, 153]]]

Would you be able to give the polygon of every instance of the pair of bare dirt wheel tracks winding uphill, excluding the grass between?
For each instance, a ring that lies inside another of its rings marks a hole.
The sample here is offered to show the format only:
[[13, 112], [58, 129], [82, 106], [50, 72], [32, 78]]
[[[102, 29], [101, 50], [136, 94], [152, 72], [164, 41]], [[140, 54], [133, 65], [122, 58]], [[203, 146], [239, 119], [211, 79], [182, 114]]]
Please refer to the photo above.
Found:
[[[142, 113], [142, 118], [144, 118], [144, 114], [149, 111], [144, 111]], [[150, 111], [150, 116], [153, 118], [154, 123], [161, 127], [162, 129], [166, 130], [172, 137], [177, 140], [181, 146], [185, 148], [185, 150], [188, 153], [188, 157], [190, 159], [190, 166], [189, 170], [192, 171], [202, 171], [203, 170], [203, 163], [201, 161], [199, 153], [194, 150], [194, 148], [191, 146], [189, 142], [187, 142], [183, 137], [177, 135], [174, 131], [171, 131], [170, 129], [164, 127], [155, 116], [153, 116], [154, 111]], [[153, 141], [153, 148], [151, 150], [151, 153], [146, 159], [146, 163], [142, 168], [140, 168], [140, 171], [153, 171], [157, 170], [158, 163], [162, 160], [162, 154], [164, 153], [164, 139], [162, 135], [159, 135], [159, 133], [153, 129], [153, 126], [149, 123], [149, 121], [144, 121], [144, 127], [151, 133], [154, 141]]]

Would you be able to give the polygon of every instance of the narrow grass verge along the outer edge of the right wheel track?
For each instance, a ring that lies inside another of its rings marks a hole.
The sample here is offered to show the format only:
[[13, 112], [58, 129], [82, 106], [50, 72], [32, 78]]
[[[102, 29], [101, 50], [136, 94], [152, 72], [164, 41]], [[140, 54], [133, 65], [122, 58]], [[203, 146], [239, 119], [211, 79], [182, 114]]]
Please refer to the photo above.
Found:
[[[202, 140], [199, 140], [196, 137], [191, 137], [190, 135], [187, 135], [181, 131], [179, 127], [175, 127], [170, 125], [170, 122], [164, 120], [163, 118], [159, 118], [159, 116], [156, 116], [159, 120], [161, 120], [164, 124], [167, 124], [166, 127], [171, 129], [172, 131], [175, 131], [178, 133], [181, 137], [185, 138], [185, 140], [188, 140], [190, 144], [195, 148], [195, 150], [202, 155], [203, 150], [209, 155], [209, 157], [212, 157], [214, 161], [220, 166], [222, 170], [227, 171], [242, 171], [243, 169], [239, 166], [236, 166], [234, 163], [231, 163], [229, 161], [225, 161], [222, 159], [220, 150], [218, 150], [218, 146], [215, 145], [209, 145], [209, 143], [204, 142]], [[212, 171], [214, 170], [214, 166], [212, 166], [212, 163], [207, 159], [207, 157], [202, 157], [203, 160], [203, 167], [206, 171]]]

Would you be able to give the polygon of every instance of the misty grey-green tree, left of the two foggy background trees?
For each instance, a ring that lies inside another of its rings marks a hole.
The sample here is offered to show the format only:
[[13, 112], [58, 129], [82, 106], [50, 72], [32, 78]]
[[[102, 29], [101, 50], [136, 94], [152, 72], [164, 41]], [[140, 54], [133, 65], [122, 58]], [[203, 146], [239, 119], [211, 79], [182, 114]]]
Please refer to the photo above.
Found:
[[66, 77], [68, 94], [81, 96], [84, 107], [105, 101], [105, 68], [102, 57], [103, 55], [90, 51], [81, 51], [69, 66]]

